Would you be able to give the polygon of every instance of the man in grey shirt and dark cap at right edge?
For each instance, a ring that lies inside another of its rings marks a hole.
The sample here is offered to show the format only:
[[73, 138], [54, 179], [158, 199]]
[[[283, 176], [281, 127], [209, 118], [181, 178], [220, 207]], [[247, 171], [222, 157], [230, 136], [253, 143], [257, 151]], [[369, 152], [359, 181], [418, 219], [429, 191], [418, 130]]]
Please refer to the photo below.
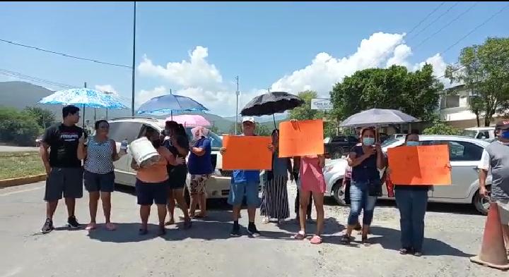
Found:
[[509, 120], [496, 125], [498, 140], [484, 149], [479, 164], [479, 195], [486, 197], [486, 176], [491, 169], [491, 199], [498, 204], [505, 245], [509, 246]]

